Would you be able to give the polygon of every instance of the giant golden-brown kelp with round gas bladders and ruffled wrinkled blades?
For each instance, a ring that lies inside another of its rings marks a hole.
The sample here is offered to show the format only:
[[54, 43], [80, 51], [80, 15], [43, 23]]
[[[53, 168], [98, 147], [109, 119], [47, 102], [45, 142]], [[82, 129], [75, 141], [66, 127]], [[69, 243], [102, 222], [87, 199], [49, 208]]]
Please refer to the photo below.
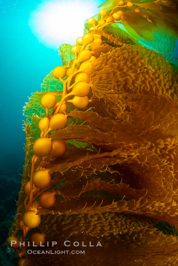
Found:
[[178, 265], [176, 1], [100, 8], [24, 107], [19, 266]]

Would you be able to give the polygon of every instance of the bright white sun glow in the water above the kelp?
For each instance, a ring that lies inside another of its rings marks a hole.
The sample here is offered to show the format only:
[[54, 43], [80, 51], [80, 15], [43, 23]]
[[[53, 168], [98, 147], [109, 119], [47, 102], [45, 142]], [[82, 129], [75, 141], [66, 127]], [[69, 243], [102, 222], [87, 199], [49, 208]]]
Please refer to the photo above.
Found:
[[99, 13], [99, 4], [94, 0], [43, 2], [32, 11], [29, 26], [38, 41], [50, 48], [62, 43], [74, 45], [83, 36], [85, 19]]

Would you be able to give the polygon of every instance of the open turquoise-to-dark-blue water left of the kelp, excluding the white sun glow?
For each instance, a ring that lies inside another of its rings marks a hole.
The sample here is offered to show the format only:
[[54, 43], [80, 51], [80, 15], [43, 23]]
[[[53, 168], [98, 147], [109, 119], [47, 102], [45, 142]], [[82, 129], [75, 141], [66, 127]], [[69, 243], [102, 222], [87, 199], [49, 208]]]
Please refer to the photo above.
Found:
[[[39, 1], [41, 3], [41, 1]], [[101, 2], [102, 3], [102, 2]], [[23, 106], [32, 92], [40, 91], [44, 77], [62, 60], [58, 49], [40, 43], [28, 26], [36, 1], [3, 1], [1, 4], [1, 244], [13, 222], [24, 165]], [[99, 5], [100, 3], [98, 3]], [[177, 47], [177, 45], [176, 45]], [[177, 55], [177, 48], [174, 51]], [[10, 264], [12, 265], [12, 264]]]

